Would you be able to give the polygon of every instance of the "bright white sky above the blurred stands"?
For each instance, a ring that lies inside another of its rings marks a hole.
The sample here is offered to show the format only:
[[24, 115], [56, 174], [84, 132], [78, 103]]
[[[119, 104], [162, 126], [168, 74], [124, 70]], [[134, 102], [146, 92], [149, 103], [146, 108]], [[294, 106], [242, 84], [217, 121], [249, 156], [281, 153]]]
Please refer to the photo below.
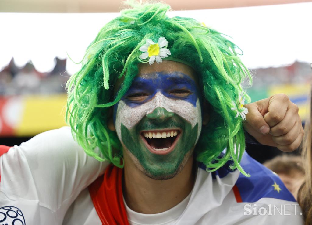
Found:
[[[280, 66], [295, 60], [312, 62], [312, 2], [173, 11], [230, 35], [249, 68]], [[38, 71], [51, 71], [54, 57], [80, 61], [100, 28], [119, 13], [0, 13], [0, 68], [14, 57], [22, 67], [32, 60]], [[80, 68], [67, 60], [66, 70]]]

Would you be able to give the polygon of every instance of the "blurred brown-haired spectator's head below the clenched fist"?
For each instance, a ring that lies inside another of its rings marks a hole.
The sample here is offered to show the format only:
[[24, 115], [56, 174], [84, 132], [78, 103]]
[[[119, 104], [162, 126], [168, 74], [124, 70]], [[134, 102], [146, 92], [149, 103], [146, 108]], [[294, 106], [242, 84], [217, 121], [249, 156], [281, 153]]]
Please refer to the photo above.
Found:
[[266, 161], [263, 165], [277, 173], [286, 188], [297, 199], [298, 190], [305, 177], [301, 157], [284, 154]]

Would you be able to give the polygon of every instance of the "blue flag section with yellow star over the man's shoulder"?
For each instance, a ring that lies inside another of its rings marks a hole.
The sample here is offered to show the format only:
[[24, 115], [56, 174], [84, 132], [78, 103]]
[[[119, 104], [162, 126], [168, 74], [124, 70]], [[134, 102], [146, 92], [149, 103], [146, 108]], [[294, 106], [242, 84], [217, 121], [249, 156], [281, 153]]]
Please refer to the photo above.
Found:
[[262, 198], [296, 202], [277, 174], [258, 163], [246, 152], [240, 164], [250, 177], [239, 175], [233, 187], [237, 202], [256, 202]]

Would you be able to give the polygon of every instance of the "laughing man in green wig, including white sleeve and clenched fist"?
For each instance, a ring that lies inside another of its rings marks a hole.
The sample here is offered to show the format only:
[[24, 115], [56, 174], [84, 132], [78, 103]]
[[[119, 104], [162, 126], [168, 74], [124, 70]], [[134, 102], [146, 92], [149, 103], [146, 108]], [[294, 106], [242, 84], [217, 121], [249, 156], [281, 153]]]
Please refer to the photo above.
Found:
[[0, 222], [302, 223], [280, 179], [244, 153], [245, 131], [296, 149], [298, 108], [283, 94], [244, 105], [251, 76], [235, 44], [168, 5], [130, 5], [67, 83], [71, 128], [1, 146]]

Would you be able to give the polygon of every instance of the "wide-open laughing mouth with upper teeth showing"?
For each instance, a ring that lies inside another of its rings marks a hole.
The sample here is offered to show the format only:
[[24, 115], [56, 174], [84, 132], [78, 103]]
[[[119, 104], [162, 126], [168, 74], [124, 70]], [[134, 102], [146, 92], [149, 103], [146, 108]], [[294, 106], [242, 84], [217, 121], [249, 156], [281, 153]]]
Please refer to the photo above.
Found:
[[152, 153], [167, 154], [174, 149], [180, 133], [179, 130], [143, 131], [141, 136]]

